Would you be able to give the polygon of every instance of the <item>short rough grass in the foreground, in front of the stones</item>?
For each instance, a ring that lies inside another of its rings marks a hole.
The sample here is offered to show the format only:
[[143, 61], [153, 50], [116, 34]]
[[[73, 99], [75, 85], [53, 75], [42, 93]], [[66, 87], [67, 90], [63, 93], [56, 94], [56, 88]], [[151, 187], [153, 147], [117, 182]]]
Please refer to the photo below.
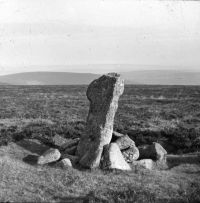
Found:
[[0, 202], [200, 201], [200, 164], [132, 172], [35, 165], [46, 149], [36, 140], [0, 147]]

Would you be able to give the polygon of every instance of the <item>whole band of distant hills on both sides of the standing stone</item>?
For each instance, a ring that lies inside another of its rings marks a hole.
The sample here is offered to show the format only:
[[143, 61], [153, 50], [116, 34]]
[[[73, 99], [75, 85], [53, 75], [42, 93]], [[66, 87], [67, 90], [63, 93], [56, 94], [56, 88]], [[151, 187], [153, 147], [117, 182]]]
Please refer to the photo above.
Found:
[[[126, 84], [200, 85], [200, 72], [148, 70], [121, 75]], [[87, 85], [98, 77], [91, 73], [26, 72], [0, 76], [0, 85]]]

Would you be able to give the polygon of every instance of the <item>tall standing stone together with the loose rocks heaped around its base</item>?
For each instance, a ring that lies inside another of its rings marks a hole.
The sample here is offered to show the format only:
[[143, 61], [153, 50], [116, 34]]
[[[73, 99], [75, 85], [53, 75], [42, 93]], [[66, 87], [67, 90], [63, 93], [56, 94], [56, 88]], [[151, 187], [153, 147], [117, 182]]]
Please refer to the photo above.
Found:
[[[158, 143], [136, 147], [128, 135], [113, 131], [124, 80], [109, 73], [94, 80], [87, 89], [90, 109], [81, 138], [66, 140], [55, 136], [58, 149], [50, 148], [38, 158], [38, 164], [56, 162], [61, 167], [131, 170], [139, 166], [153, 169], [166, 165], [166, 150]], [[60, 144], [61, 143], [61, 144]]]

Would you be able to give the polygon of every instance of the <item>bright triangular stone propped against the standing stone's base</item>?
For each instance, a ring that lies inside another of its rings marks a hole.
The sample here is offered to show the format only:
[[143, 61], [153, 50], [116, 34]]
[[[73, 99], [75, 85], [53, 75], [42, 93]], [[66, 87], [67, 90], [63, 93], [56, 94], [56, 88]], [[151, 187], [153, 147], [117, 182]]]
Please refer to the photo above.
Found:
[[116, 143], [104, 146], [102, 169], [131, 170]]

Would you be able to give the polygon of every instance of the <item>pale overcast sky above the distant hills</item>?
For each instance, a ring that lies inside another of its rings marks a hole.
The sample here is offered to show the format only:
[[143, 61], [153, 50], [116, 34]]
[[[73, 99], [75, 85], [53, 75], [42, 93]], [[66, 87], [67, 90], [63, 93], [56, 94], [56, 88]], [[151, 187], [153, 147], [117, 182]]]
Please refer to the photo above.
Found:
[[0, 0], [0, 75], [200, 71], [200, 2]]

